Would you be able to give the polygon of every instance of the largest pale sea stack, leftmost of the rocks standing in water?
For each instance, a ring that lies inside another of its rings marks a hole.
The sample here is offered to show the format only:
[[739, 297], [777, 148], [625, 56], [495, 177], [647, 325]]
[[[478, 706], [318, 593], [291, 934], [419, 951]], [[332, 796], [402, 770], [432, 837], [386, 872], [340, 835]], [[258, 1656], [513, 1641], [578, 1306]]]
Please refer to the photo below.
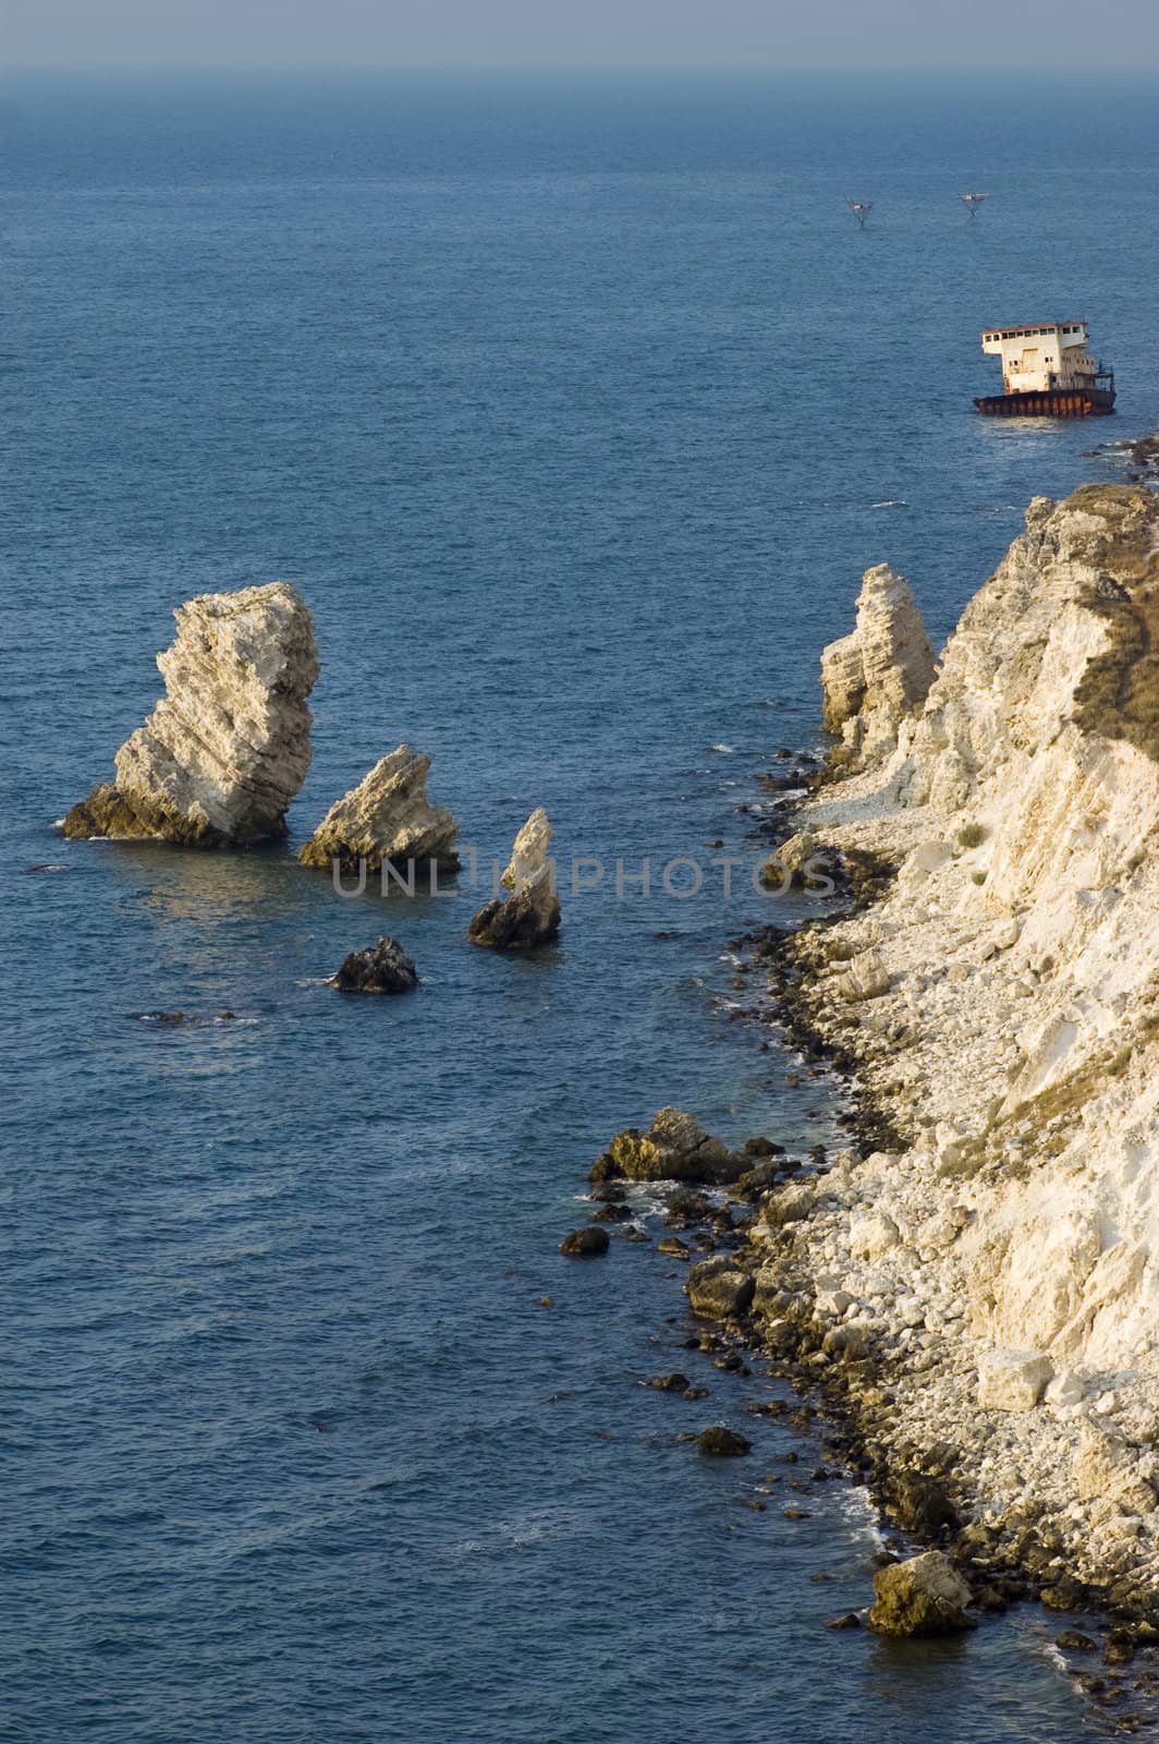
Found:
[[310, 614], [289, 582], [202, 593], [157, 656], [166, 694], [117, 752], [117, 781], [64, 818], [66, 835], [153, 835], [220, 848], [286, 834], [310, 767]]

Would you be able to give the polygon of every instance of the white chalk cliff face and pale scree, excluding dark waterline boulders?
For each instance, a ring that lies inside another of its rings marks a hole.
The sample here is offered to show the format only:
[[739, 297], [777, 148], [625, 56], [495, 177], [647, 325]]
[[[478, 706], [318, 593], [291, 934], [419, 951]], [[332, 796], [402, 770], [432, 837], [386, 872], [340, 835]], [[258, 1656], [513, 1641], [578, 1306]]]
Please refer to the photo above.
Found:
[[892, 731], [913, 666], [857, 701], [852, 640], [863, 766], [803, 821], [899, 870], [795, 949], [903, 1148], [838, 1163], [800, 1249], [920, 1369], [913, 1446], [1159, 1591], [1159, 497], [1035, 499]]

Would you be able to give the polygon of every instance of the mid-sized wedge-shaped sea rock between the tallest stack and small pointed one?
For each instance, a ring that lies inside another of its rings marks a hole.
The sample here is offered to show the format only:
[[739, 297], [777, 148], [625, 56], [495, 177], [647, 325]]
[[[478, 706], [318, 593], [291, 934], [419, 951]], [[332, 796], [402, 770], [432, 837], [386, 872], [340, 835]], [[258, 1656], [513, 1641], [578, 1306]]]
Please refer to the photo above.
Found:
[[430, 759], [410, 745], [382, 757], [329, 807], [298, 855], [302, 865], [326, 870], [338, 860], [343, 870], [357, 870], [364, 860], [376, 872], [383, 862], [425, 860], [453, 870], [458, 825], [446, 806], [427, 800], [429, 771]]

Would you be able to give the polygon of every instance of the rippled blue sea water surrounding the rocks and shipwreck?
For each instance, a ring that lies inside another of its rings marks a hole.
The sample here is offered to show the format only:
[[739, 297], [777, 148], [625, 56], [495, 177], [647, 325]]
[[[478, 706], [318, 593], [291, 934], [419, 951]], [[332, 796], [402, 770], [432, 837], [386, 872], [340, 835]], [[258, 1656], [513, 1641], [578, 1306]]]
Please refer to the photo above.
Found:
[[[664, 1102], [835, 1137], [732, 1020], [769, 909], [708, 844], [756, 856], [737, 807], [816, 738], [868, 563], [943, 637], [1030, 495], [1154, 426], [1154, 78], [10, 75], [0, 113], [0, 1737], [1105, 1735], [1056, 1618], [826, 1632], [861, 1495], [748, 1507], [819, 1444], [681, 1348], [671, 1263], [556, 1245]], [[1117, 417], [976, 419], [979, 328], [1072, 316]], [[63, 842], [174, 605], [275, 576], [322, 651], [289, 848]], [[465, 879], [295, 865], [401, 739], [485, 865], [537, 804], [607, 865], [556, 950], [469, 949]], [[645, 855], [704, 889], [620, 900]], [[343, 1001], [378, 931], [422, 989]], [[711, 1397], [640, 1385], [673, 1367]], [[748, 1461], [674, 1439], [718, 1416]]]

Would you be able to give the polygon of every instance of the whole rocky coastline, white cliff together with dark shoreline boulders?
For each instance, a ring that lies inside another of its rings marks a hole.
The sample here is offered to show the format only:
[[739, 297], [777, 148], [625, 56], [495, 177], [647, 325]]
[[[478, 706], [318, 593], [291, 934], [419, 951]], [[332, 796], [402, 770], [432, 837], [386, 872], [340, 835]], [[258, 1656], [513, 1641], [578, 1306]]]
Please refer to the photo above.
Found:
[[674, 1182], [704, 1338], [763, 1353], [973, 1611], [1056, 1611], [1124, 1732], [1159, 1699], [1156, 602], [1159, 499], [1128, 487], [1035, 499], [936, 664], [868, 572], [828, 760], [770, 778], [772, 872], [835, 900], [730, 940], [749, 1018], [840, 1074], [849, 1144], [746, 1158], [662, 1111], [593, 1170], [605, 1219]]

